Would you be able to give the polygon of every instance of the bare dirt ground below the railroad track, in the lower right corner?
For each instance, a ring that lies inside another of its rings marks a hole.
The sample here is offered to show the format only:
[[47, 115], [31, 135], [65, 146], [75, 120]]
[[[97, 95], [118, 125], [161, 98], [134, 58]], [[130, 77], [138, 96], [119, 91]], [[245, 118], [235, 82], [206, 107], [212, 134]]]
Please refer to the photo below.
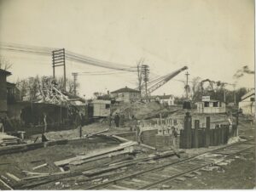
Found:
[[200, 171], [201, 175], [185, 181], [166, 183], [170, 189], [253, 189], [255, 187], [255, 153], [239, 155], [220, 171]]

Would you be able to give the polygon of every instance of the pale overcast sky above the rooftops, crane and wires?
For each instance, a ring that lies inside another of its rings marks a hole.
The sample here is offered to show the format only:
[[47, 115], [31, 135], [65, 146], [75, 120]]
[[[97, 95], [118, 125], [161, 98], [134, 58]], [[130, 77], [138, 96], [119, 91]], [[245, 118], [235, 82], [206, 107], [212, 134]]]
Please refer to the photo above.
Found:
[[[0, 0], [0, 42], [66, 48], [78, 54], [133, 66], [141, 58], [160, 76], [187, 65], [189, 79], [201, 76], [233, 83], [242, 66], [254, 69], [253, 0]], [[51, 58], [7, 52], [0, 55], [18, 77], [52, 75]], [[72, 72], [108, 71], [67, 61]], [[62, 69], [57, 70], [62, 75]], [[175, 79], [185, 79], [185, 71]], [[150, 75], [149, 75], [150, 77]], [[79, 76], [79, 93], [136, 88], [136, 74]], [[237, 87], [253, 87], [244, 76]], [[182, 95], [171, 80], [154, 94]]]

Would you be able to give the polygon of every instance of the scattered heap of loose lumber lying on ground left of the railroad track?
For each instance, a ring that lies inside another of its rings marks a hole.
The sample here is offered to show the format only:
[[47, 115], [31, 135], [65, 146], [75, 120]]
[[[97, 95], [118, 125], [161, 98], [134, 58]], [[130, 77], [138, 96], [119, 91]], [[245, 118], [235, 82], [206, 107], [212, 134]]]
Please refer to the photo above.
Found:
[[[119, 144], [105, 149], [79, 153], [62, 160], [47, 161], [36, 167], [27, 167], [28, 169], [21, 170], [21, 177], [15, 176], [14, 183], [9, 182], [8, 179], [4, 179], [3, 182], [9, 186], [9, 189], [32, 189], [52, 182], [58, 185], [57, 188], [62, 189], [63, 179], [65, 181], [68, 181], [68, 178], [74, 179], [76, 184], [93, 183], [95, 180], [102, 182], [109, 177], [120, 177], [120, 174], [125, 173], [128, 167], [132, 169], [134, 167], [136, 170], [136, 165], [151, 164], [161, 158], [179, 153], [175, 150], [157, 152], [151, 146], [121, 138], [108, 133], [108, 130], [86, 134], [84, 137], [88, 139], [108, 137], [119, 141]], [[152, 152], [152, 150], [154, 153], [147, 153], [148, 151]], [[39, 169], [44, 170], [44, 172], [37, 172]], [[47, 172], [47, 169], [51, 171]], [[9, 176], [7, 175], [7, 177]]]

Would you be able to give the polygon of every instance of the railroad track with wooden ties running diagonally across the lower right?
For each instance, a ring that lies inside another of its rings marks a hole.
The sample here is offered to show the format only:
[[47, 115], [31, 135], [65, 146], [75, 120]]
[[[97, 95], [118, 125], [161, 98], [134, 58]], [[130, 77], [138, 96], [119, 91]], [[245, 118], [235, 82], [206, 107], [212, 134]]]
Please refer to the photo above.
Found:
[[87, 189], [160, 189], [174, 179], [183, 180], [183, 177], [192, 178], [201, 169], [218, 165], [234, 155], [254, 149], [254, 138], [224, 146], [218, 150], [207, 151], [180, 161], [172, 162], [160, 167], [154, 167], [143, 172], [135, 172], [125, 177], [116, 178], [102, 184], [90, 186]]

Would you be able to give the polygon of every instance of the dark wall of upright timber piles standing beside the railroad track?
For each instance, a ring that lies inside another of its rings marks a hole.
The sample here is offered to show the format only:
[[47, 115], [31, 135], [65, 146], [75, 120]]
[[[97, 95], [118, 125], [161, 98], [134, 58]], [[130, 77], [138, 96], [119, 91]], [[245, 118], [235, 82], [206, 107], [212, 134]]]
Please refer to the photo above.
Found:
[[207, 116], [206, 127], [199, 127], [200, 121], [195, 120], [192, 129], [192, 118], [189, 114], [184, 119], [184, 129], [180, 131], [179, 147], [181, 149], [202, 148], [227, 144], [229, 138], [236, 136], [236, 125], [217, 125], [210, 129], [210, 116]]

